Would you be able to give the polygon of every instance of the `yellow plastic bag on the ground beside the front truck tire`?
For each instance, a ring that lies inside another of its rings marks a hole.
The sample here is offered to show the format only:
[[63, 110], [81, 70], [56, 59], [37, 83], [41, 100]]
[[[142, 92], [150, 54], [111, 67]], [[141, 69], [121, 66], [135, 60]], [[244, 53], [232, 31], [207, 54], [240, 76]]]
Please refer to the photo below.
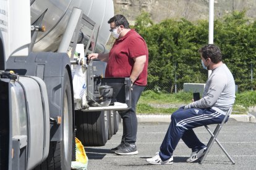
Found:
[[87, 170], [88, 157], [85, 153], [82, 143], [75, 137], [75, 161], [72, 161], [72, 169]]

